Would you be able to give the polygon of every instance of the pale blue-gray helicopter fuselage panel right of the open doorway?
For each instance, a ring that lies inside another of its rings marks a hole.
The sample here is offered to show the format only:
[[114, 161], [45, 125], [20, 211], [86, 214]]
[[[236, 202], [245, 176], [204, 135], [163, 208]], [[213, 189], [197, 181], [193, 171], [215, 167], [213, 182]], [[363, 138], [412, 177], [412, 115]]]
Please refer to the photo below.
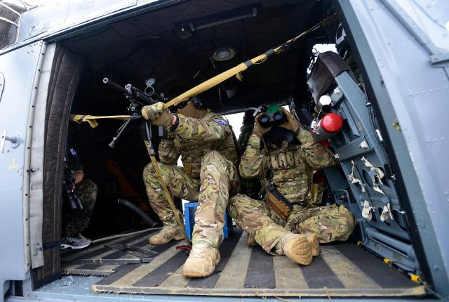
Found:
[[[447, 297], [448, 75], [443, 68], [432, 67], [426, 49], [406, 26], [392, 18], [381, 1], [351, 0], [340, 4], [394, 143], [394, 155], [406, 184], [432, 279], [437, 291]], [[439, 5], [447, 9], [449, 3], [443, 1]], [[419, 20], [424, 25], [433, 22], [425, 13], [420, 14]], [[446, 35], [445, 39], [449, 37]], [[395, 122], [399, 130], [393, 126]]]

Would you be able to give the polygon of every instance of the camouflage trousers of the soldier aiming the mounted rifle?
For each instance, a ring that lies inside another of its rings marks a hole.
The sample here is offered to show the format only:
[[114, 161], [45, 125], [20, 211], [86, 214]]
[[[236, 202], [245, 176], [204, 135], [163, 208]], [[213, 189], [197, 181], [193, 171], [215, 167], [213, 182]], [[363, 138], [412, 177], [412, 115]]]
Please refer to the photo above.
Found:
[[[198, 202], [192, 243], [218, 247], [222, 242], [229, 194], [239, 190], [239, 176], [232, 162], [217, 151], [209, 151], [201, 162], [200, 178], [191, 178], [181, 166], [158, 163], [168, 190], [176, 197]], [[176, 225], [175, 216], [159, 184], [152, 164], [143, 171], [149, 204], [163, 225]]]

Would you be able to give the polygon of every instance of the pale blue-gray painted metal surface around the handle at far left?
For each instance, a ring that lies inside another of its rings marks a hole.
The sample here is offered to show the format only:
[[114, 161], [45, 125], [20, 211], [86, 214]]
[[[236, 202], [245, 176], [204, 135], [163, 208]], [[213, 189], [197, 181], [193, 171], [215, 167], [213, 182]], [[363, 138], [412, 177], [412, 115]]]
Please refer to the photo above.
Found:
[[[0, 131], [8, 135], [20, 133], [18, 144], [5, 143], [0, 153], [0, 280], [24, 280], [30, 267], [29, 217], [27, 188], [23, 187], [25, 142], [28, 131], [29, 105], [32, 98], [36, 67], [43, 55], [42, 43], [36, 42], [13, 53], [0, 56], [0, 72], [4, 74], [4, 91], [0, 102]], [[5, 248], [8, 247], [8, 248]]]

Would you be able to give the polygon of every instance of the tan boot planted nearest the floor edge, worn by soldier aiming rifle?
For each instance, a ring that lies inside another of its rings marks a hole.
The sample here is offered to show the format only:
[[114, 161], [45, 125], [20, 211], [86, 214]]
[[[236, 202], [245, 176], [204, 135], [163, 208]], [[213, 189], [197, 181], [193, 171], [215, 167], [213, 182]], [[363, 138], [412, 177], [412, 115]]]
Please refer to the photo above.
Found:
[[194, 244], [189, 258], [184, 263], [182, 275], [185, 277], [207, 277], [215, 271], [215, 265], [220, 263], [220, 252], [208, 244]]

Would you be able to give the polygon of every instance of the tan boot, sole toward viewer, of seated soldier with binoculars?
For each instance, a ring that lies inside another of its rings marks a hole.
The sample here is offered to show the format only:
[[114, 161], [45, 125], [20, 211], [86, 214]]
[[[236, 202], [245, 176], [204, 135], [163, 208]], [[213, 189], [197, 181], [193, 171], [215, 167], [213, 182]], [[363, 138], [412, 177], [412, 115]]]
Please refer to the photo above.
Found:
[[291, 261], [309, 265], [311, 263], [311, 245], [307, 240], [307, 235], [287, 234], [281, 238], [281, 249]]

